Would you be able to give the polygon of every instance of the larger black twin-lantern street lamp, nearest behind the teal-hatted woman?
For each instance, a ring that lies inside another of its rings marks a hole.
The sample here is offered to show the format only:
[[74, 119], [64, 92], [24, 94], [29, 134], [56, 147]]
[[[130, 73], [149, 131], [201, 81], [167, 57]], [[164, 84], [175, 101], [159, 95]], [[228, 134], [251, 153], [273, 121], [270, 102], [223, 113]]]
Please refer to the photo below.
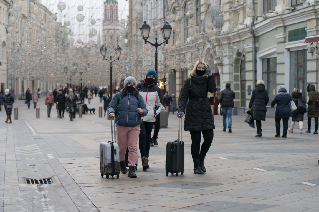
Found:
[[152, 44], [151, 42], [147, 41], [147, 39], [150, 35], [150, 29], [151, 29], [150, 25], [146, 24], [146, 21], [144, 21], [144, 24], [140, 28], [140, 31], [141, 31], [142, 37], [145, 41], [145, 44], [149, 43], [152, 46], [155, 46], [155, 71], [157, 73], [157, 47], [159, 47], [160, 45], [162, 45], [164, 43], [168, 44], [168, 39], [171, 37], [172, 27], [171, 27], [171, 25], [168, 24], [168, 22], [165, 22], [163, 28], [161, 29], [165, 41], [161, 44], [157, 43], [157, 37], [155, 38], [155, 44]]

